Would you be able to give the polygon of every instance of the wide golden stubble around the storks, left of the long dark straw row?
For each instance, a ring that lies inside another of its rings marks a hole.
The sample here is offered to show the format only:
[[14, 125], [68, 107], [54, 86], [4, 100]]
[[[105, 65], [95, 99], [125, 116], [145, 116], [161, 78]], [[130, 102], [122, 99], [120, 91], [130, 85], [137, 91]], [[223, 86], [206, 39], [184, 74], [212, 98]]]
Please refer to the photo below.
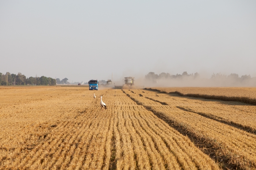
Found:
[[0, 169], [219, 169], [187, 136], [121, 90], [0, 91]]

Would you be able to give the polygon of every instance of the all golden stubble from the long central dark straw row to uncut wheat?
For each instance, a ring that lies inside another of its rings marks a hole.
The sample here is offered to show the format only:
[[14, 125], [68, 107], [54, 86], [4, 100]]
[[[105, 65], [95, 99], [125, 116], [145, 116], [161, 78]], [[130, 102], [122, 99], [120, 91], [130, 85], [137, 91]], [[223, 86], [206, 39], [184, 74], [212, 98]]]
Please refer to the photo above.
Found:
[[234, 121], [243, 127], [255, 129], [255, 106], [240, 102], [178, 97], [176, 94], [148, 90], [125, 90], [125, 93], [162, 119], [172, 122], [185, 133], [194, 135], [192, 140], [204, 140], [204, 144], [210, 146], [209, 149], [214, 148], [210, 154], [222, 166], [256, 168], [256, 135], [232, 126]]

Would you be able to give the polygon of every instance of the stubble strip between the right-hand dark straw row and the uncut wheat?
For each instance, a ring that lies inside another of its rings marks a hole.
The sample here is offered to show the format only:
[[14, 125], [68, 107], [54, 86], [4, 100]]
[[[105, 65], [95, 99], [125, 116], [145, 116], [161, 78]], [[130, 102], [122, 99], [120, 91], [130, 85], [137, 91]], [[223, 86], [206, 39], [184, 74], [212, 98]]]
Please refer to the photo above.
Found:
[[167, 95], [150, 96], [148, 99], [175, 106], [184, 111], [193, 112], [226, 124], [232, 124], [256, 134], [256, 107], [240, 102], [195, 99]]

